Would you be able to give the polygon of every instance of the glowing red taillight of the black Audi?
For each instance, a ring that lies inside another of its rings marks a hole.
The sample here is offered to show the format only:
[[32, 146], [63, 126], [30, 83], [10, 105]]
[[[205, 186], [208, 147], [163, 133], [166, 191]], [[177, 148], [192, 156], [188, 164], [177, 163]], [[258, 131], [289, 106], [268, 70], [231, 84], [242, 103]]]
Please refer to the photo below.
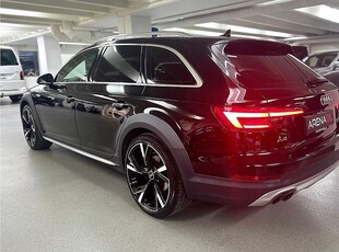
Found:
[[213, 106], [217, 118], [233, 129], [271, 128], [284, 117], [303, 114], [301, 108]]

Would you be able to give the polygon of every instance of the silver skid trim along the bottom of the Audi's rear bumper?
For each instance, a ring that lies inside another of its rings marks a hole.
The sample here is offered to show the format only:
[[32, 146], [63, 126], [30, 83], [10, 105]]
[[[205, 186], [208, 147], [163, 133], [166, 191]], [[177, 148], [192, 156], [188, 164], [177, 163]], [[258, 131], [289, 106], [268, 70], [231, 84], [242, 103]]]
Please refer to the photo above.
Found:
[[326, 175], [328, 175], [338, 165], [339, 165], [339, 161], [335, 162], [332, 165], [330, 165], [326, 170], [319, 172], [318, 174], [315, 174], [314, 176], [311, 176], [304, 181], [297, 182], [295, 184], [292, 184], [292, 185], [289, 185], [289, 186], [285, 186], [282, 188], [278, 188], [278, 190], [268, 192], [248, 206], [265, 206], [265, 205], [269, 204], [271, 201], [273, 201], [273, 198], [276, 198], [279, 194], [285, 193], [288, 191], [299, 192], [301, 190], [307, 188], [311, 185], [313, 185], [314, 183], [316, 183], [319, 180], [322, 180], [323, 177], [325, 177]]

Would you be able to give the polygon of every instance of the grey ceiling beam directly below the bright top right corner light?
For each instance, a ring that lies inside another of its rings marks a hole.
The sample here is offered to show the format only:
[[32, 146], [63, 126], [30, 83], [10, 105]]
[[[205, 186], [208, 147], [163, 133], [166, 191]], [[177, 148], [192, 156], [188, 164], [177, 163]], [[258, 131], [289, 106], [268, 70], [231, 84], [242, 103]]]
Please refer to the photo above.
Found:
[[339, 33], [339, 25], [334, 22], [329, 22], [323, 19], [318, 19], [315, 16], [309, 16], [306, 13], [302, 12], [279, 12], [274, 13], [273, 15], [267, 15], [270, 19], [276, 19], [279, 21], [285, 21], [296, 25], [304, 25], [308, 27], [320, 28], [329, 32], [337, 32]]

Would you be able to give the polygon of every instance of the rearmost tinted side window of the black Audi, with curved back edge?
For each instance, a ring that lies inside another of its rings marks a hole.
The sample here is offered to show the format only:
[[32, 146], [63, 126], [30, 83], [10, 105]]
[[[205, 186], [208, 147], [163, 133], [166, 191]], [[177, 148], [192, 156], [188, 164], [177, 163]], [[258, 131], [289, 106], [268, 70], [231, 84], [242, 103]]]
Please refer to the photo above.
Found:
[[159, 84], [191, 85], [196, 81], [174, 53], [160, 47], [147, 47], [147, 81]]

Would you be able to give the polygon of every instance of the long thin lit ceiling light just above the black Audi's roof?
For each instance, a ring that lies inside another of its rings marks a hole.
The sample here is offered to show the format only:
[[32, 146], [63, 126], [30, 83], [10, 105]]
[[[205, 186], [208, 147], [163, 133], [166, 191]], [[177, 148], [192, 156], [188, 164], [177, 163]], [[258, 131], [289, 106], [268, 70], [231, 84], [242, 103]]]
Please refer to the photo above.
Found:
[[247, 34], [254, 34], [254, 35], [264, 35], [264, 36], [271, 36], [271, 37], [294, 36], [293, 34], [290, 34], [290, 33], [280, 33], [280, 32], [273, 32], [273, 31], [267, 31], [267, 30], [249, 28], [249, 27], [244, 27], [244, 26], [227, 25], [227, 24], [221, 24], [221, 23], [214, 23], [214, 22], [196, 24], [195, 26], [222, 30], [222, 31], [227, 31], [229, 28], [231, 28], [232, 32], [247, 33]]

